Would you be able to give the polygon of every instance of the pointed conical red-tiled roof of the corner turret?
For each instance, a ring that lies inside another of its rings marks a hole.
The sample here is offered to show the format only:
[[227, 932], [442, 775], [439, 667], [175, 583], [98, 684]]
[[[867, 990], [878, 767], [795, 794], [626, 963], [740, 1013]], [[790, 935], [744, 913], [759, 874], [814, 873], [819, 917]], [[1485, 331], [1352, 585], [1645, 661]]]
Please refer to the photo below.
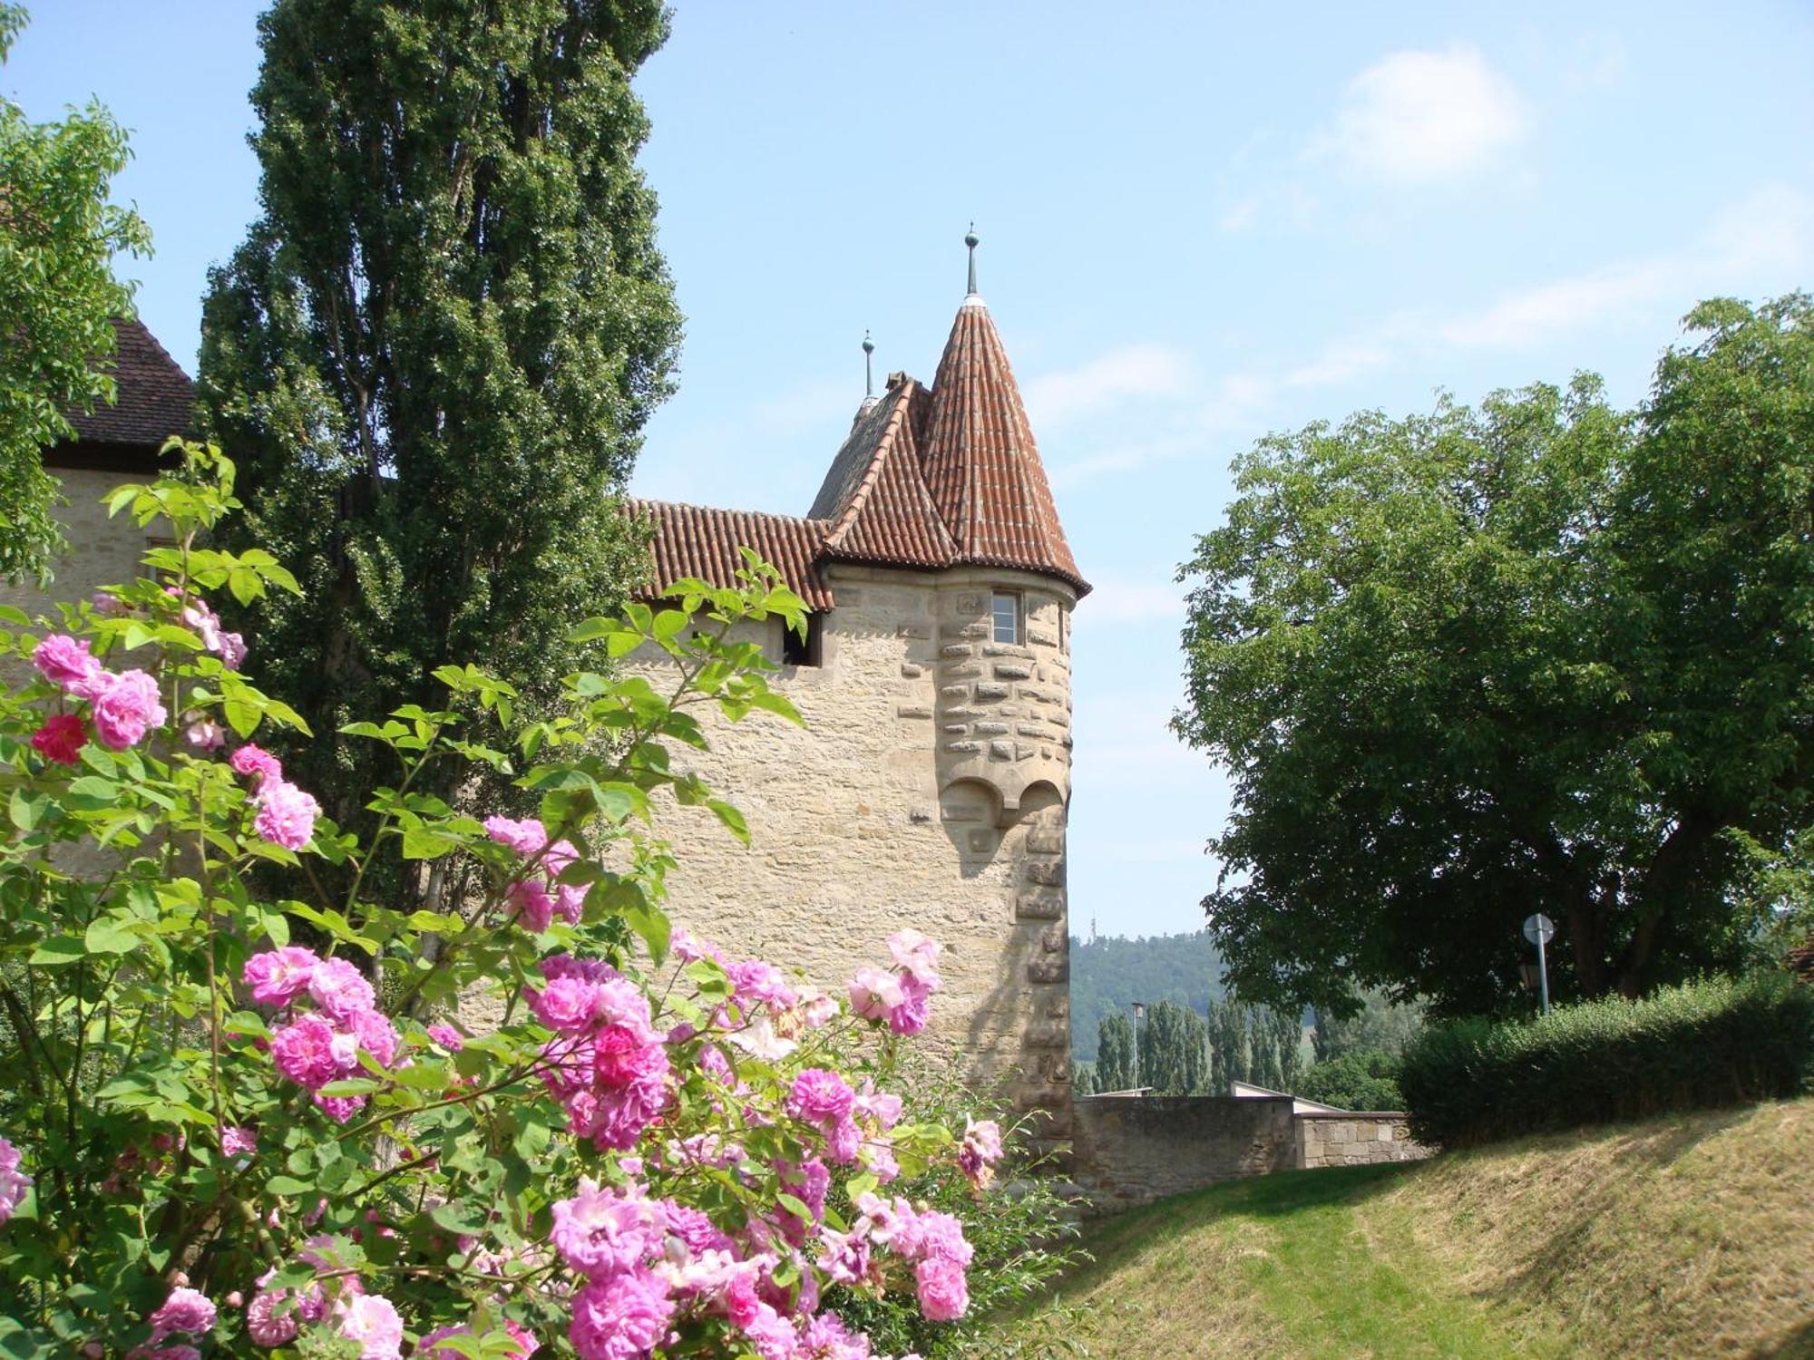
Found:
[[981, 297], [958, 308], [938, 361], [920, 464], [960, 562], [1047, 571], [1088, 589]]

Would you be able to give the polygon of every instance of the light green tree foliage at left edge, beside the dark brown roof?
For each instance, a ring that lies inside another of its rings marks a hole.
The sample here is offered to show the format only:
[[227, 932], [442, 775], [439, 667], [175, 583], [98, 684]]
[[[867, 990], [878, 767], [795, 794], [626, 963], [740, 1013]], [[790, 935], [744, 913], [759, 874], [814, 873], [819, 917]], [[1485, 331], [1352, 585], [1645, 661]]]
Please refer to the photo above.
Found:
[[[0, 63], [25, 11], [0, 4]], [[62, 544], [44, 450], [73, 439], [67, 413], [114, 399], [105, 359], [132, 290], [112, 256], [145, 254], [138, 214], [109, 203], [125, 132], [100, 103], [33, 123], [0, 96], [0, 577], [45, 573]], [[174, 433], [174, 432], [172, 432]]]

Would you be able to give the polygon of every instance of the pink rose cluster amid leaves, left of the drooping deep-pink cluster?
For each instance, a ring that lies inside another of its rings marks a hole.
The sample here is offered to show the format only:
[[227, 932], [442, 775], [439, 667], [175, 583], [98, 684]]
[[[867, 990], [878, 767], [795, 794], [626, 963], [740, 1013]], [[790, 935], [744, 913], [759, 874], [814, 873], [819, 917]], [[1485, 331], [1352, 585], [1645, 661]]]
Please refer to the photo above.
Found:
[[[270, 1057], [285, 1077], [314, 1092], [316, 1104], [345, 1124], [361, 1108], [363, 1095], [321, 1095], [330, 1081], [359, 1072], [363, 1048], [379, 1066], [397, 1059], [397, 1030], [377, 1010], [377, 996], [346, 959], [321, 959], [297, 945], [265, 950], [245, 961], [245, 985], [252, 1001], [279, 1006], [288, 1023], [270, 1035]], [[314, 1010], [296, 1010], [307, 996]]]

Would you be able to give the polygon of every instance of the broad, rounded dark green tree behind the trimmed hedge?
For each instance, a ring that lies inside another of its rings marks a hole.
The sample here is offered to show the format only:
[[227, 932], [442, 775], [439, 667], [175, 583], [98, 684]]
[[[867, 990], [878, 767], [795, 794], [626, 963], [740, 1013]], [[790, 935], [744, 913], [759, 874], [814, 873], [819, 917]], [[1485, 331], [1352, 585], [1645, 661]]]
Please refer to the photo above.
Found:
[[1261, 441], [1183, 575], [1235, 811], [1204, 901], [1243, 996], [1526, 1005], [1736, 967], [1743, 850], [1807, 823], [1814, 305], [1698, 306], [1598, 379]]

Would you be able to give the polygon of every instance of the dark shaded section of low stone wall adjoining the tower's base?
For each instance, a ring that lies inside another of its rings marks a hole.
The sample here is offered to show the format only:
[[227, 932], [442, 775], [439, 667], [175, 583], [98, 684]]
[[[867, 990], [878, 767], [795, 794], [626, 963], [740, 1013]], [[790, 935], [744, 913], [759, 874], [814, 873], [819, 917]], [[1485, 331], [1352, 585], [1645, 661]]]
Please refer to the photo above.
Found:
[[1085, 1095], [1074, 1104], [1072, 1180], [1090, 1213], [1293, 1166], [1290, 1097]]

